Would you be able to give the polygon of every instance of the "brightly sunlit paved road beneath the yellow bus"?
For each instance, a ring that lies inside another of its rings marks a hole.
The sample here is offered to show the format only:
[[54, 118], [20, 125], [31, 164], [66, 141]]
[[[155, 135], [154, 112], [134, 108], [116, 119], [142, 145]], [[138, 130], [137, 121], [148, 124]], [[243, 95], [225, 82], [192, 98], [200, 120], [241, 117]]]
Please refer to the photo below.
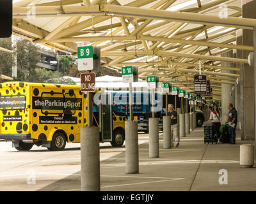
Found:
[[[147, 140], [147, 135], [140, 134], [139, 143]], [[113, 148], [110, 143], [100, 143], [100, 161], [124, 150], [125, 146]], [[51, 152], [35, 145], [29, 152], [19, 152], [12, 148], [12, 142], [1, 141], [0, 164], [0, 191], [37, 191], [65, 179], [67, 175], [76, 177], [76, 172], [81, 170], [80, 143], [67, 143], [61, 152]], [[34, 175], [36, 185], [33, 185]]]

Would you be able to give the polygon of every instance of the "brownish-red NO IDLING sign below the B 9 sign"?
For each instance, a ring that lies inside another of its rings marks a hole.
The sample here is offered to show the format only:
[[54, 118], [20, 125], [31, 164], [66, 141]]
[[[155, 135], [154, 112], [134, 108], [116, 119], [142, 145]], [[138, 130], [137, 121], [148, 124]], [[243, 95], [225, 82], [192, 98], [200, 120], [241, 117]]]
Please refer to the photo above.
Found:
[[81, 91], [95, 91], [95, 73], [81, 73]]

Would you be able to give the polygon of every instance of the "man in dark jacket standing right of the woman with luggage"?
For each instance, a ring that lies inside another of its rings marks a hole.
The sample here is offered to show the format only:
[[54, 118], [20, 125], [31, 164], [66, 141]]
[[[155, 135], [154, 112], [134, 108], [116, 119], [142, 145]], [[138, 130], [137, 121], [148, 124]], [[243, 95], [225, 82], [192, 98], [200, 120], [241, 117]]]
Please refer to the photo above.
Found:
[[237, 124], [237, 111], [232, 103], [228, 103], [228, 134], [230, 135], [230, 143], [236, 143], [236, 124]]

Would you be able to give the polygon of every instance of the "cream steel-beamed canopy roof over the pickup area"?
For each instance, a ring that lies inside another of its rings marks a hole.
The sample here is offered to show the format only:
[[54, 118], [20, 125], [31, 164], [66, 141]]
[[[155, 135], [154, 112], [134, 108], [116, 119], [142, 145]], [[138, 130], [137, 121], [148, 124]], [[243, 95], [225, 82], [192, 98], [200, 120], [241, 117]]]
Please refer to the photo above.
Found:
[[255, 21], [241, 18], [241, 0], [13, 0], [17, 36], [75, 56], [77, 46], [100, 46], [102, 66], [137, 65], [140, 78], [157, 75], [188, 91], [201, 63], [217, 98], [220, 84], [239, 77], [221, 62], [246, 63], [221, 54], [252, 51], [236, 45], [236, 31]]

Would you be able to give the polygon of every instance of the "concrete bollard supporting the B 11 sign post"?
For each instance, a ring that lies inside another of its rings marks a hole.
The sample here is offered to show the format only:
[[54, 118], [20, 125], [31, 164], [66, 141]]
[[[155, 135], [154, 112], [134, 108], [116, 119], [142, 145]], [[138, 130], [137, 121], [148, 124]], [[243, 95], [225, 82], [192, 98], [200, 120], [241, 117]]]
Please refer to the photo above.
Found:
[[159, 157], [159, 118], [148, 119], [149, 128], [149, 157]]

